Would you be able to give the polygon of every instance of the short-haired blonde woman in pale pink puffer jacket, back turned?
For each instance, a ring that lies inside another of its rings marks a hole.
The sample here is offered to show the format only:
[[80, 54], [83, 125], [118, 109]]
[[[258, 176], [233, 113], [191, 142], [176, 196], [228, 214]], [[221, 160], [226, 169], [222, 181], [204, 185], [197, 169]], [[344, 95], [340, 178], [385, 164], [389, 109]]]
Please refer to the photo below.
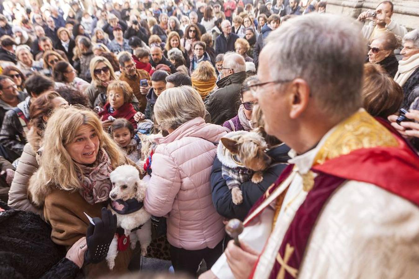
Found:
[[[214, 143], [225, 135], [205, 123], [205, 106], [190, 86], [163, 91], [154, 105], [155, 122], [169, 134], [153, 154], [153, 174], [144, 207], [167, 218], [167, 239], [175, 272], [196, 275], [205, 259], [208, 269], [222, 253], [224, 224], [211, 199], [209, 178], [217, 153]], [[197, 175], [199, 174], [199, 175]]]

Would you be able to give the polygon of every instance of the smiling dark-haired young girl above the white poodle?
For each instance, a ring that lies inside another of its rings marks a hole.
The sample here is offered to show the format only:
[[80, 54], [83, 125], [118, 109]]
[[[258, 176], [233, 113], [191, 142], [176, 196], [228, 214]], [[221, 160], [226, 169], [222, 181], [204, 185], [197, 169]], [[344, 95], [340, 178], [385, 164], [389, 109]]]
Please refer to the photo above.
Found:
[[125, 118], [116, 119], [111, 125], [114, 141], [127, 152], [127, 157], [139, 164], [141, 161], [141, 141], [134, 126]]

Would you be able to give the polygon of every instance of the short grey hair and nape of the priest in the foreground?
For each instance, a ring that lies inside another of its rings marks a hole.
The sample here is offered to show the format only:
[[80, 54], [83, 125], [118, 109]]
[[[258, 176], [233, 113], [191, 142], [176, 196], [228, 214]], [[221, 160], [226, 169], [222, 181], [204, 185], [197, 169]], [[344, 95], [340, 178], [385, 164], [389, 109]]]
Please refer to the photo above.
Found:
[[310, 13], [287, 20], [269, 34], [264, 48], [271, 79], [304, 79], [322, 113], [334, 119], [352, 115], [362, 106], [367, 53], [360, 29], [342, 15]]

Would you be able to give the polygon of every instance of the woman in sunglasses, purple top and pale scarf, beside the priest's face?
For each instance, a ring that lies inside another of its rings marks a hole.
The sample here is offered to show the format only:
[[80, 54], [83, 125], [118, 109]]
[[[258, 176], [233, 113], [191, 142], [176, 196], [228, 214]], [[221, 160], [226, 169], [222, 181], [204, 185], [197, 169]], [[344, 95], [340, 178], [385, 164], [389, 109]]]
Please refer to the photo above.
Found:
[[227, 120], [222, 124], [230, 131], [250, 131], [253, 129], [251, 124], [253, 105], [256, 101], [255, 97], [251, 93], [248, 82], [257, 80], [256, 76], [248, 77], [244, 80], [240, 88], [241, 94], [241, 105], [238, 108], [238, 113], [235, 117]]

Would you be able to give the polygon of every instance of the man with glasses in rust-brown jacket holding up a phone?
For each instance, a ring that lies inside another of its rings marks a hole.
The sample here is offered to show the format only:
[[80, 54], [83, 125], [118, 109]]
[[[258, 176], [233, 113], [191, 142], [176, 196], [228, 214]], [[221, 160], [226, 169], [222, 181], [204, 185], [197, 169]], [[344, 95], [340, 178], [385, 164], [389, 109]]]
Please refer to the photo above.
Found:
[[150, 74], [147, 71], [136, 69], [134, 59], [132, 59], [129, 52], [124, 52], [119, 56], [119, 68], [121, 75], [119, 80], [127, 82], [134, 92], [134, 96], [139, 102], [139, 111], [144, 113], [145, 106], [147, 105], [147, 99], [145, 95], [150, 88]]

